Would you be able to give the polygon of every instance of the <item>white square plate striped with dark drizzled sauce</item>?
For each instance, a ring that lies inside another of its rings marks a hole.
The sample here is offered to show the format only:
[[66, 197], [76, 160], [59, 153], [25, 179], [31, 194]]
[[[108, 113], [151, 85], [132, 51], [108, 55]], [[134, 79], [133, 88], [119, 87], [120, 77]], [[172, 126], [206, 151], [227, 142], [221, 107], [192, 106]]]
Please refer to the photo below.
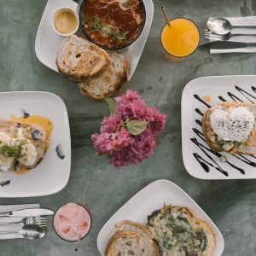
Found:
[[221, 152], [228, 160], [222, 163], [219, 154], [208, 150], [201, 134], [202, 113], [208, 108], [202, 102], [204, 96], [211, 96], [211, 102], [207, 102], [210, 106], [223, 101], [256, 102], [254, 86], [256, 76], [207, 77], [194, 79], [186, 85], [182, 96], [183, 163], [191, 176], [201, 179], [256, 178], [255, 156]]

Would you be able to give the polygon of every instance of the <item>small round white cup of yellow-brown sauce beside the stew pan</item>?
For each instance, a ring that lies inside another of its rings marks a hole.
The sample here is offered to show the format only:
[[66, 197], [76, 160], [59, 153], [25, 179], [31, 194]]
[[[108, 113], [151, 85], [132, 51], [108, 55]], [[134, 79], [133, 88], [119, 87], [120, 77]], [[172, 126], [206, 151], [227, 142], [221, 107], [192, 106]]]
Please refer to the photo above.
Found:
[[58, 35], [62, 37], [71, 36], [79, 29], [79, 14], [75, 9], [69, 7], [55, 9], [51, 25]]

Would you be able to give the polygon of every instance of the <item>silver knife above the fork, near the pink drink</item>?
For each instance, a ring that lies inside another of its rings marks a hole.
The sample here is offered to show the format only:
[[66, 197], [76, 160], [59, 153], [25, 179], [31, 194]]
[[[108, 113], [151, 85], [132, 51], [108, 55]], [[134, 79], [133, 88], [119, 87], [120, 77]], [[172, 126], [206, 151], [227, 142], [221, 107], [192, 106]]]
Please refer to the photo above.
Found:
[[0, 217], [33, 217], [33, 216], [49, 216], [55, 212], [45, 208], [30, 208], [11, 212], [0, 212]]

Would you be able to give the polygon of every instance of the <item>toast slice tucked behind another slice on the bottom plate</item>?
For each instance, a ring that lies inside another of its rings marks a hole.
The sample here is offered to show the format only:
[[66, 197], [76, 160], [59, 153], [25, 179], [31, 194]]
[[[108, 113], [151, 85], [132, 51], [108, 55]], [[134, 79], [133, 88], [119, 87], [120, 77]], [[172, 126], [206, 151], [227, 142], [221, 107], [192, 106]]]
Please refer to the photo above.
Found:
[[142, 238], [143, 253], [145, 256], [158, 256], [159, 248], [153, 240], [153, 236], [143, 224], [138, 224], [130, 220], [124, 220], [115, 225], [115, 232], [131, 231], [136, 232]]

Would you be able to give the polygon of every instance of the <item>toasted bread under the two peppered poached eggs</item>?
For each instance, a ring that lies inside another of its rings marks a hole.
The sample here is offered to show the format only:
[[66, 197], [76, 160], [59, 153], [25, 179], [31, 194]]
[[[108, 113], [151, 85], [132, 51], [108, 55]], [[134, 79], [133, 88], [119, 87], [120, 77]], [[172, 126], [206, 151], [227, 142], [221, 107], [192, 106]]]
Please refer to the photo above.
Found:
[[[247, 103], [247, 102], [222, 102], [219, 103], [212, 108], [207, 109], [207, 112], [204, 113], [201, 123], [202, 123], [202, 131], [204, 134], [204, 137], [206, 139], [206, 143], [209, 145], [209, 147], [214, 151], [227, 151], [231, 154], [256, 154], [256, 129], [255, 125], [253, 126], [253, 132], [252, 136], [250, 136], [251, 143], [235, 143], [235, 142], [229, 142], [228, 146], [226, 147], [225, 142], [218, 141], [216, 138], [216, 134], [212, 130], [211, 125], [211, 114], [216, 109], [223, 109], [225, 111], [229, 110], [229, 108], [236, 108], [236, 107], [245, 107], [248, 108], [253, 114], [254, 117], [256, 117], [256, 104], [253, 103]], [[231, 147], [233, 144], [233, 147]]]

